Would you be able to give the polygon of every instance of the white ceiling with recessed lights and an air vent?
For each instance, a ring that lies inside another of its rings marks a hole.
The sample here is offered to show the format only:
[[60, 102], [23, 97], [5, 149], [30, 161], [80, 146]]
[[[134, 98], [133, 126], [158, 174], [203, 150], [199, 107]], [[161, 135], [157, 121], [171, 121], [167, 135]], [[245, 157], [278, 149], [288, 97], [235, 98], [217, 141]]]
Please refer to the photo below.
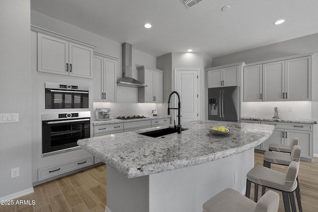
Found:
[[214, 58], [318, 33], [318, 0], [202, 0], [190, 8], [180, 0], [31, 0], [31, 9], [156, 57], [191, 48]]

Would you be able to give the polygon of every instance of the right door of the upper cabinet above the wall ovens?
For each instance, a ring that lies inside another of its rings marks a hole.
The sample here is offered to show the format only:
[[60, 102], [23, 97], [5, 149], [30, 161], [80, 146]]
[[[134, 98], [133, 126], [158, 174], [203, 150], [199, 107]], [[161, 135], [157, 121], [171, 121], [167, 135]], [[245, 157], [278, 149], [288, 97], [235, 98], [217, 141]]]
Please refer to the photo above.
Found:
[[79, 44], [70, 43], [70, 75], [93, 78], [93, 50]]

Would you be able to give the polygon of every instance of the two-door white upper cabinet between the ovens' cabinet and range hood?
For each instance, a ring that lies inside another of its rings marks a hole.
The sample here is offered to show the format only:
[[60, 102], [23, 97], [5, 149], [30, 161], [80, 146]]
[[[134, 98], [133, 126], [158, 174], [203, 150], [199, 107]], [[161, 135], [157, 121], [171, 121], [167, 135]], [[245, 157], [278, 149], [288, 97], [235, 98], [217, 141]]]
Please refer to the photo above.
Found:
[[116, 67], [118, 58], [94, 53], [93, 101], [116, 102]]

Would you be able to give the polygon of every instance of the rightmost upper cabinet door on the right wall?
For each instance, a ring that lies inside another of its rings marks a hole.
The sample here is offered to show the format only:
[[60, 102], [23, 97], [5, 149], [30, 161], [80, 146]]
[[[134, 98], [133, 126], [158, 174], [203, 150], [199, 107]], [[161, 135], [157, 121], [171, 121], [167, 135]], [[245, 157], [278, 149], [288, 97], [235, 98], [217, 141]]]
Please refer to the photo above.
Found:
[[287, 60], [285, 92], [289, 101], [312, 99], [311, 57]]

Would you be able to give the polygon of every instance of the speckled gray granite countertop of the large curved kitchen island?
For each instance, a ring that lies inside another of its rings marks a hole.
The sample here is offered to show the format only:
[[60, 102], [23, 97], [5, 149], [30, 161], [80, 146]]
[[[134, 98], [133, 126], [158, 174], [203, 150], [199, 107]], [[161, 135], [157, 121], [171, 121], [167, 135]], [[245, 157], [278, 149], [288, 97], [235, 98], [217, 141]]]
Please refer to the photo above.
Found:
[[[171, 125], [173, 126], [173, 125]], [[214, 126], [227, 126], [224, 136], [210, 134]], [[152, 138], [138, 133], [167, 128], [162, 126], [78, 141], [86, 151], [128, 178], [198, 165], [238, 154], [266, 141], [273, 125], [222, 121], [187, 122], [182, 134]]]

